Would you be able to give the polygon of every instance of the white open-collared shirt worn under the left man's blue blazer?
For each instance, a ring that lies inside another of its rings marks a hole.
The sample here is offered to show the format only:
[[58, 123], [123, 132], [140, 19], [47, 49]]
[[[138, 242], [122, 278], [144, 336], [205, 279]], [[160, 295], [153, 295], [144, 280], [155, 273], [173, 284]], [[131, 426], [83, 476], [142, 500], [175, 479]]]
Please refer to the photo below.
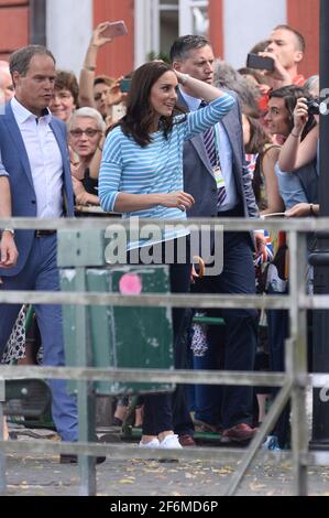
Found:
[[63, 159], [50, 122], [52, 115], [35, 117], [15, 97], [11, 100], [15, 121], [29, 157], [36, 196], [36, 216], [63, 216]]

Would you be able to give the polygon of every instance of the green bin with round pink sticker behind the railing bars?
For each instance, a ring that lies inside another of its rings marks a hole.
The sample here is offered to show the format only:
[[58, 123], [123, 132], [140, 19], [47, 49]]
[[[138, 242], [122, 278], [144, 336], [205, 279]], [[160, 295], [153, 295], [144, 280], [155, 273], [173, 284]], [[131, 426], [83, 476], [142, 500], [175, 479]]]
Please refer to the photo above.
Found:
[[[75, 266], [75, 248], [78, 252], [78, 266], [81, 267], [81, 250], [88, 241], [88, 233], [63, 233], [58, 246], [61, 266]], [[69, 239], [69, 234], [73, 238]], [[97, 234], [97, 233], [96, 233]], [[123, 285], [136, 284], [139, 293], [168, 293], [169, 272], [166, 266], [109, 266], [100, 263], [103, 257], [106, 240], [101, 233], [99, 239], [92, 233], [94, 258], [98, 268], [92, 267], [90, 241], [86, 258], [86, 289], [88, 292], [119, 293]], [[68, 246], [70, 242], [70, 246]], [[95, 248], [96, 247], [96, 248]], [[102, 250], [98, 248], [102, 247]], [[90, 263], [91, 262], [91, 263]], [[79, 291], [76, 285], [76, 270], [61, 269], [63, 291]], [[113, 367], [129, 369], [173, 369], [173, 333], [172, 312], [166, 307], [130, 307], [130, 306], [88, 306], [86, 313], [89, 322], [91, 357], [94, 367]], [[74, 305], [63, 307], [65, 355], [67, 366], [78, 366], [76, 326], [77, 309]], [[69, 388], [76, 389], [76, 382]], [[101, 395], [155, 392], [173, 390], [173, 384], [154, 382], [95, 382], [95, 389]]]

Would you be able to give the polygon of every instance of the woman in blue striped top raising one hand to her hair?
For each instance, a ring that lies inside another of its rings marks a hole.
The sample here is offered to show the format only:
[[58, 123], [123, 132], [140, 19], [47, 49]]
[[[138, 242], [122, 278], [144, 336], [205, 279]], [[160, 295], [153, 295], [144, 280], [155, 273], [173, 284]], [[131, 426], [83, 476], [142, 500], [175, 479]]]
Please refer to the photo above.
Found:
[[[176, 106], [178, 82], [187, 84], [195, 97], [209, 102], [205, 108], [183, 114]], [[184, 142], [215, 126], [233, 106], [234, 99], [207, 83], [174, 72], [161, 61], [135, 71], [127, 99], [127, 116], [106, 140], [99, 176], [99, 197], [106, 212], [155, 219], [185, 219], [194, 204], [183, 190]], [[213, 140], [213, 139], [212, 139]], [[189, 289], [190, 260], [178, 263], [177, 250], [188, 246], [188, 230], [172, 226], [151, 239], [128, 244], [130, 257], [140, 253], [160, 257], [166, 251], [175, 260], [169, 266], [171, 290]], [[155, 252], [155, 253], [154, 253]], [[188, 255], [187, 255], [188, 257]], [[173, 310], [175, 365], [182, 365], [178, 339], [185, 311]], [[141, 447], [182, 447], [173, 432], [172, 398], [168, 393], [144, 399]]]

